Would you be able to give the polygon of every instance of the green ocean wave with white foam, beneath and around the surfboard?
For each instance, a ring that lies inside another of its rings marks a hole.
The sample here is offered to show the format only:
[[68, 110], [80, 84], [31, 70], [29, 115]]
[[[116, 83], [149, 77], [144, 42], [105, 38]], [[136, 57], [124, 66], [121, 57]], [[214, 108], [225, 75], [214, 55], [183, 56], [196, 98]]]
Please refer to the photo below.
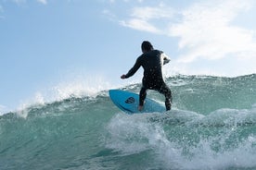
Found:
[[107, 89], [1, 115], [0, 169], [256, 169], [255, 74], [166, 82], [173, 109], [163, 114], [126, 115]]

